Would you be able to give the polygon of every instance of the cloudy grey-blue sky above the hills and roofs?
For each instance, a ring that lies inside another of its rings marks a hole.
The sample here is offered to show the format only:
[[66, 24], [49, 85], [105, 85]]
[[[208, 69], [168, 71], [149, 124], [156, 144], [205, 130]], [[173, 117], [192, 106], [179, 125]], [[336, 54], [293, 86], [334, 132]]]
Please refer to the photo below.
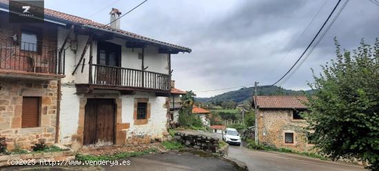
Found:
[[[194, 90], [198, 97], [210, 97], [238, 88], [203, 91], [249, 85], [254, 81], [260, 85], [274, 83], [305, 50], [336, 2], [149, 0], [123, 17], [121, 28], [192, 48], [190, 54], [172, 56], [176, 88]], [[45, 0], [45, 7], [109, 23], [108, 12], [112, 7], [127, 12], [139, 3]], [[372, 44], [379, 37], [379, 6], [369, 0], [350, 0], [303, 66], [281, 86], [307, 89], [307, 81], [312, 81], [310, 68], [319, 72], [320, 64], [335, 58], [333, 37], [347, 50], [356, 48], [362, 38]]]

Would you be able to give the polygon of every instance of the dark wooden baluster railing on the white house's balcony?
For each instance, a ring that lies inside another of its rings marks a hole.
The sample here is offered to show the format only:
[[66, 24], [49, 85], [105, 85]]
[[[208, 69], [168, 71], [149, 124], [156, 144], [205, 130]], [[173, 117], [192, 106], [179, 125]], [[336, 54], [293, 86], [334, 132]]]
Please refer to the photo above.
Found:
[[170, 75], [130, 68], [91, 64], [90, 83], [99, 86], [169, 91]]

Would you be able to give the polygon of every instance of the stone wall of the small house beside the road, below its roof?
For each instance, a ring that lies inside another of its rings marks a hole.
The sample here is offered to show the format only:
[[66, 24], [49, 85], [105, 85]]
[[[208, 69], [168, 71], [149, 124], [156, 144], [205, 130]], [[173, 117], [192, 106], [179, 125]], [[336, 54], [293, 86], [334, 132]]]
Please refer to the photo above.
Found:
[[[276, 148], [291, 148], [298, 151], [309, 150], [304, 119], [293, 119], [293, 110], [258, 110], [258, 142]], [[294, 143], [285, 143], [285, 133], [294, 134]]]

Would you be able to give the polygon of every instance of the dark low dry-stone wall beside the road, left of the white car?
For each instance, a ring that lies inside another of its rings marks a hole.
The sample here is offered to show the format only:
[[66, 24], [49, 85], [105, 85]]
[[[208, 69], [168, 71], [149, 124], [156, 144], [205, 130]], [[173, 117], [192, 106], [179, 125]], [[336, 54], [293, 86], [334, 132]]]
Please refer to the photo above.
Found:
[[204, 150], [206, 152], [218, 152], [218, 139], [207, 137], [201, 134], [188, 134], [183, 132], [175, 132], [174, 139], [187, 148], [194, 148], [196, 150]]

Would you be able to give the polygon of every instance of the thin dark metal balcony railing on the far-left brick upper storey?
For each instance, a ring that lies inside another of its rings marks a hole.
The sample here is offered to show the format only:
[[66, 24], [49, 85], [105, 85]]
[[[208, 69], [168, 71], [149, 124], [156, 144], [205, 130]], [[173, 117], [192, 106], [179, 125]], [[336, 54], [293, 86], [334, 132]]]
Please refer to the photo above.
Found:
[[0, 70], [63, 74], [64, 51], [56, 46], [0, 39]]

